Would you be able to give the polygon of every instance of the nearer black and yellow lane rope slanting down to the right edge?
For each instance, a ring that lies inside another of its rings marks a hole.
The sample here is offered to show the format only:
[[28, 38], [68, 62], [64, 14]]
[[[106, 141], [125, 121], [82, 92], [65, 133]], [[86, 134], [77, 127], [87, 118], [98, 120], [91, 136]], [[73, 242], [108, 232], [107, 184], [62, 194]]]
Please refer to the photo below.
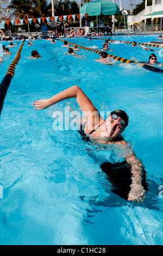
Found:
[[[60, 40], [62, 42], [64, 42], [64, 40]], [[68, 44], [72, 44], [72, 45], [77, 45], [77, 44], [74, 44], [73, 42], [67, 42]], [[101, 51], [98, 51], [98, 50], [95, 50], [95, 49], [92, 49], [92, 48], [87, 48], [87, 47], [84, 47], [84, 46], [81, 46], [81, 45], [77, 45], [79, 48], [82, 48], [84, 50], [87, 50], [87, 51], [92, 51], [92, 52], [96, 52], [98, 54], [101, 54]], [[133, 60], [130, 60], [130, 59], [125, 59], [125, 58], [121, 58], [121, 57], [117, 57], [115, 55], [111, 55], [111, 54], [108, 54], [108, 57], [111, 57], [115, 60], [118, 60], [119, 62], [122, 62], [122, 63], [134, 63], [134, 64], [140, 64], [141, 66], [143, 66], [143, 68], [147, 69], [147, 70], [150, 70], [150, 71], [153, 71], [153, 72], [158, 72], [160, 74], [163, 74], [163, 70], [162, 69], [158, 69], [158, 68], [155, 68], [154, 66], [149, 66], [145, 63], [140, 63], [140, 62], [134, 62]]]

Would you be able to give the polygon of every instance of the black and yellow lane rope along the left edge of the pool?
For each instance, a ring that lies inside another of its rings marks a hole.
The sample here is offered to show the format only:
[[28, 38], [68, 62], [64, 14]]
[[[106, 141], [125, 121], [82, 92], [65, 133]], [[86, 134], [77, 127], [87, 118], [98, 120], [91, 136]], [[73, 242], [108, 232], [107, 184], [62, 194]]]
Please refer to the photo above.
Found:
[[21, 46], [19, 47], [19, 49], [16, 53], [15, 59], [10, 64], [10, 66], [8, 68], [8, 71], [5, 74], [3, 80], [0, 84], [0, 115], [1, 115], [1, 112], [2, 112], [3, 103], [4, 103], [5, 96], [7, 94], [7, 90], [10, 86], [10, 82], [12, 80], [12, 77], [14, 76], [15, 66], [17, 65], [17, 63], [18, 63], [18, 61], [20, 60], [20, 57], [21, 57], [20, 54], [21, 54], [23, 45], [24, 45], [24, 41], [22, 42]]

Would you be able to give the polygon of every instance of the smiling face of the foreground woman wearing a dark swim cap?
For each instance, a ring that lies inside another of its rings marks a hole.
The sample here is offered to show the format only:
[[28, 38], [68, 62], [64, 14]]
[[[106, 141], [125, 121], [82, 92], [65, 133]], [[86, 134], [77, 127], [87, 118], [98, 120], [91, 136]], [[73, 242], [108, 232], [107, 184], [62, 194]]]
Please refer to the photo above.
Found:
[[104, 123], [103, 136], [114, 139], [118, 135], [121, 135], [126, 126], [121, 125], [120, 120], [120, 117], [113, 119], [111, 115], [109, 115]]

